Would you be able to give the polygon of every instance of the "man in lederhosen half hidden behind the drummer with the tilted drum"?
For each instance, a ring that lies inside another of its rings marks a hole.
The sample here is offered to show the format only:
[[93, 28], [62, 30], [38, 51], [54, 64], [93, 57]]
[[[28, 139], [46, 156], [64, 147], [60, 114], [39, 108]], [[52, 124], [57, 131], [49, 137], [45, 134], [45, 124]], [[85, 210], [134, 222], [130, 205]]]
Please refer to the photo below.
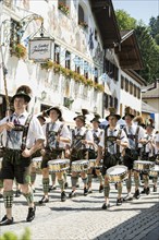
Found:
[[[96, 116], [90, 122], [93, 123], [93, 136], [94, 136], [94, 145], [89, 146], [88, 149], [88, 158], [89, 159], [96, 159], [97, 158], [97, 153], [98, 153], [98, 144], [100, 142], [101, 135], [103, 130], [99, 129], [99, 121], [100, 116]], [[100, 167], [97, 166], [95, 169], [96, 175], [98, 176], [100, 185], [99, 185], [99, 192], [101, 193], [103, 191], [103, 178], [100, 172]], [[91, 193], [91, 181], [93, 181], [93, 168], [88, 169], [88, 193]]]

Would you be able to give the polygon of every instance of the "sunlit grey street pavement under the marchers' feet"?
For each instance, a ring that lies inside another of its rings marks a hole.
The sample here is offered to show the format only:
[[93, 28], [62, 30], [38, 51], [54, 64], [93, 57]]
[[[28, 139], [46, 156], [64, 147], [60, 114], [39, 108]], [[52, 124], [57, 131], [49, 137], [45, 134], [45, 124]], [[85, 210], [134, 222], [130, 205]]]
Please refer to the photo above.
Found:
[[[71, 185], [70, 176], [68, 176]], [[111, 183], [110, 204], [107, 211], [101, 209], [103, 193], [98, 192], [98, 179], [93, 179], [91, 194], [83, 195], [83, 183], [80, 179], [77, 196], [60, 201], [60, 190], [50, 192], [50, 201], [39, 205], [42, 196], [41, 176], [36, 179], [36, 218], [26, 223], [27, 205], [21, 195], [14, 199], [14, 224], [2, 226], [0, 235], [13, 231], [22, 236], [25, 228], [29, 228], [32, 240], [159, 240], [159, 185], [158, 192], [152, 192], [150, 180], [150, 194], [140, 195], [139, 200], [124, 202], [117, 206], [117, 190]], [[140, 190], [143, 187], [140, 187]], [[134, 185], [133, 190], [134, 191]], [[66, 189], [66, 194], [71, 188]], [[123, 196], [126, 195], [125, 182]], [[4, 215], [3, 202], [0, 200], [0, 216]]]

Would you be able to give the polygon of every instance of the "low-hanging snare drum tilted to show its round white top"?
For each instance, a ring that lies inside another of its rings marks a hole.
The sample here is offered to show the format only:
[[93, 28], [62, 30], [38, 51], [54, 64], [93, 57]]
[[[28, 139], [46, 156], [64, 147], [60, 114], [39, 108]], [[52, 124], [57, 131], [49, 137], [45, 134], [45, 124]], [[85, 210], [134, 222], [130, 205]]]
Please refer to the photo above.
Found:
[[122, 182], [127, 179], [127, 167], [123, 165], [117, 165], [108, 168], [107, 176], [109, 178], [109, 182]]

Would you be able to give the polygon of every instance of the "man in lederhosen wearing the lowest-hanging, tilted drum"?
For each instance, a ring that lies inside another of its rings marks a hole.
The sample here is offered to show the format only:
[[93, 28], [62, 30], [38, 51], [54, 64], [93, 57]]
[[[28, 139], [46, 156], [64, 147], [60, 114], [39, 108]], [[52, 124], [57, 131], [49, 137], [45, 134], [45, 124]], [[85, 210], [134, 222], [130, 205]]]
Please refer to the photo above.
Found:
[[[115, 113], [114, 108], [109, 109], [110, 115], [106, 118], [109, 121], [109, 125], [105, 129], [98, 147], [97, 161], [100, 161], [103, 157], [102, 175], [105, 176], [105, 203], [102, 209], [110, 207], [109, 204], [109, 176], [107, 169], [115, 165], [121, 164], [121, 152], [123, 147], [127, 147], [127, 137], [125, 132], [117, 125], [118, 120], [121, 118], [120, 115]], [[118, 183], [118, 200], [117, 205], [122, 204], [122, 182]]]

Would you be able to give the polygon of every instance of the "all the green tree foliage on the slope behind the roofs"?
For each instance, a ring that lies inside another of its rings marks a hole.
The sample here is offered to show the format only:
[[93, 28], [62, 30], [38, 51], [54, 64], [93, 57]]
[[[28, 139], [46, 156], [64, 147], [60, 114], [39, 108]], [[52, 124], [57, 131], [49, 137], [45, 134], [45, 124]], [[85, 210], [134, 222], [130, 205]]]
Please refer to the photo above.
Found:
[[130, 16], [125, 11], [115, 11], [119, 28], [135, 29], [137, 43], [140, 49], [144, 69], [136, 71], [147, 83], [154, 82], [159, 77], [159, 16], [151, 17], [149, 26], [142, 21]]

